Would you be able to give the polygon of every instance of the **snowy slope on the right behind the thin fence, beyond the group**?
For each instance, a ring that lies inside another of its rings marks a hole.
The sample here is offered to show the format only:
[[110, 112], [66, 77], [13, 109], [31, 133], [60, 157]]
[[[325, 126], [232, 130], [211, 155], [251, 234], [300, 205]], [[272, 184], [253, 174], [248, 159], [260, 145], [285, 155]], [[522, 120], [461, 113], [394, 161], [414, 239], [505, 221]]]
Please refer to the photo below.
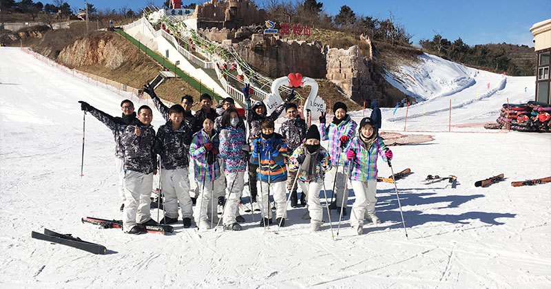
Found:
[[534, 76], [495, 74], [430, 54], [419, 56], [414, 66], [388, 72], [385, 78], [418, 103], [396, 111], [382, 109], [384, 129], [403, 130], [407, 110], [410, 131], [448, 131], [450, 122], [452, 131], [484, 131], [484, 122], [495, 122], [503, 103], [534, 100]]

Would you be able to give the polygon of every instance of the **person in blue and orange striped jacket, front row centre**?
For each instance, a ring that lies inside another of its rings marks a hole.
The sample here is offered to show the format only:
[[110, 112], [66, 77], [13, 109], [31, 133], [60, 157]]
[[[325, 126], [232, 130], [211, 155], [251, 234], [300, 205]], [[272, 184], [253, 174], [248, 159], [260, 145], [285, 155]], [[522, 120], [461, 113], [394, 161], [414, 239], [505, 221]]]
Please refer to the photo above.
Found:
[[267, 118], [260, 124], [262, 133], [253, 139], [251, 163], [258, 164], [258, 191], [260, 191], [260, 226], [271, 224], [269, 194], [275, 202], [275, 221], [284, 226], [287, 217], [285, 182], [287, 181], [287, 143], [273, 132], [273, 120]]

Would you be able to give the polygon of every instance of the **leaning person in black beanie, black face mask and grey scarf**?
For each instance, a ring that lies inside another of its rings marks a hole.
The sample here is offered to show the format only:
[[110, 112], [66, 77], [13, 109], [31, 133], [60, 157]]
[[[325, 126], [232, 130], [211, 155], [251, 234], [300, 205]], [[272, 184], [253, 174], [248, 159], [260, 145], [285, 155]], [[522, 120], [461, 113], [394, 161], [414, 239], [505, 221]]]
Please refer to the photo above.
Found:
[[289, 158], [289, 171], [298, 173], [302, 195], [306, 193], [308, 197], [311, 231], [315, 232], [320, 230], [323, 224], [320, 191], [323, 188], [325, 172], [331, 169], [331, 157], [326, 149], [320, 146], [318, 126], [312, 125], [306, 132], [305, 139], [306, 142], [295, 149], [293, 156]]

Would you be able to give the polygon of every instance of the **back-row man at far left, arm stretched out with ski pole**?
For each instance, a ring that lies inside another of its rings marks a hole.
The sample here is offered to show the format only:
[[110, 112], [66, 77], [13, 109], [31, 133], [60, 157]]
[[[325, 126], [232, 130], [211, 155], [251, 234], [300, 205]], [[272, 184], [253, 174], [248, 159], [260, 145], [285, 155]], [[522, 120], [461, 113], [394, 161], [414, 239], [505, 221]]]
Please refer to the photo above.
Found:
[[136, 120], [136, 113], [134, 112], [134, 103], [130, 100], [123, 100], [121, 102], [121, 110], [123, 111], [123, 116], [114, 117], [105, 112], [92, 107], [84, 101], [79, 101], [81, 103], [81, 109], [83, 111], [88, 111], [92, 116], [97, 118], [99, 121], [103, 122], [109, 129], [111, 129], [113, 136], [115, 138], [115, 166], [118, 173], [118, 196], [121, 198], [121, 208], [122, 212], [125, 206], [125, 168], [124, 168], [124, 157], [125, 149], [123, 144], [121, 144], [121, 136], [125, 131], [127, 125], [132, 124]]

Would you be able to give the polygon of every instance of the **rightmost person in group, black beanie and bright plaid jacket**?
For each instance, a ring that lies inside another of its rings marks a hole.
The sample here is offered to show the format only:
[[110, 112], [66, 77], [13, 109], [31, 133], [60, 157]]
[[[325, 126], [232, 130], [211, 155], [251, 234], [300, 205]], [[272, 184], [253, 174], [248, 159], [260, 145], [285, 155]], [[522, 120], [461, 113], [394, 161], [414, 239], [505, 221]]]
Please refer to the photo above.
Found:
[[356, 195], [350, 225], [358, 235], [364, 232], [364, 217], [375, 224], [381, 222], [375, 215], [378, 156], [385, 162], [387, 159], [392, 160], [392, 151], [377, 134], [373, 119], [364, 118], [360, 122], [357, 136], [346, 147], [346, 158], [352, 162], [350, 180]]

